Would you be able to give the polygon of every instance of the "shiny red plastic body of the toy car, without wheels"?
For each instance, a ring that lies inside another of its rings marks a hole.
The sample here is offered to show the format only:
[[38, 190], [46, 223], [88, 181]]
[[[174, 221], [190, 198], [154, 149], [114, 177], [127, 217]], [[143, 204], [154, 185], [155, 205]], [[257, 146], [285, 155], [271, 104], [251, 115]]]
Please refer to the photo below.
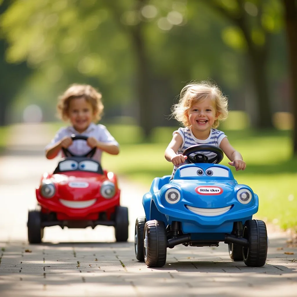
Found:
[[[44, 180], [53, 181], [57, 189], [56, 195], [50, 199], [44, 198], [40, 191]], [[111, 181], [115, 185], [115, 194], [110, 199], [100, 194], [99, 189], [104, 181]], [[36, 198], [42, 214], [54, 211], [58, 220], [96, 220], [102, 212], [105, 212], [106, 218], [110, 220], [116, 206], [120, 206], [120, 189], [116, 176], [106, 170], [102, 175], [81, 171], [45, 173], [36, 189]]]

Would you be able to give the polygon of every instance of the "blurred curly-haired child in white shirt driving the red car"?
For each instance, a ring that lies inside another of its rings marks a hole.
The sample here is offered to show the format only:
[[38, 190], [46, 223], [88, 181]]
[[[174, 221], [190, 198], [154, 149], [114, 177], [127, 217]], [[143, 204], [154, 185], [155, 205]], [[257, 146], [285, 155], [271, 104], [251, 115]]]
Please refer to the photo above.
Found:
[[[70, 121], [71, 125], [59, 129], [53, 140], [45, 148], [48, 159], [56, 157], [62, 148], [69, 148], [75, 155], [83, 155], [96, 147], [92, 158], [101, 163], [102, 151], [119, 154], [119, 144], [105, 126], [95, 124], [101, 119], [103, 104], [101, 94], [90, 85], [73, 84], [59, 97], [57, 110], [59, 117]], [[87, 141], [72, 141], [71, 135], [84, 135]], [[62, 156], [64, 156], [62, 152]]]

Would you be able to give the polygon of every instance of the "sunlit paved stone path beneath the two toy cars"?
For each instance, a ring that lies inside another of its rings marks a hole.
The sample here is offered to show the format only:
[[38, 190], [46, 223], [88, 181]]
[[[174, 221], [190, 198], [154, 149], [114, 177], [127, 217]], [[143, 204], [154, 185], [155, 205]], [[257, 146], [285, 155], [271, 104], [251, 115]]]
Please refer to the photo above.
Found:
[[[113, 227], [94, 230], [45, 228], [43, 243], [27, 241], [27, 212], [36, 203], [34, 189], [57, 160], [42, 153], [50, 133], [16, 126], [10, 151], [0, 157], [0, 296], [296, 296], [297, 247], [288, 235], [268, 225], [266, 265], [251, 268], [233, 262], [228, 247], [167, 249], [162, 268], [148, 268], [134, 254], [134, 224], [143, 215], [143, 189], [119, 178], [121, 204], [129, 208], [129, 240], [116, 243]], [[33, 130], [33, 131], [32, 131]], [[42, 136], [42, 137], [41, 137]]]

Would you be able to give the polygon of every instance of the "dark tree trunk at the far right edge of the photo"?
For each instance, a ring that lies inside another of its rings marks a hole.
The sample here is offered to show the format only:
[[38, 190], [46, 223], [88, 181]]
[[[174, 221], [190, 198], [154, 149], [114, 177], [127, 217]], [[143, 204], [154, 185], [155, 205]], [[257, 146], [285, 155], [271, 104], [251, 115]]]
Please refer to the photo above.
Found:
[[292, 107], [294, 115], [293, 154], [294, 156], [297, 156], [297, 3], [296, 1], [292, 0], [284, 0], [284, 6], [288, 56], [290, 64]]

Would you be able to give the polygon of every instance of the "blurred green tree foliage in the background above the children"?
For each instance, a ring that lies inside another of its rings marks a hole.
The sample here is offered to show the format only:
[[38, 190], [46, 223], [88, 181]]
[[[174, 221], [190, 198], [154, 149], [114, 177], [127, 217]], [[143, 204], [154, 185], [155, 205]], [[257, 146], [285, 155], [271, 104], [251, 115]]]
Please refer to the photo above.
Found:
[[[255, 112], [247, 37], [234, 22], [241, 15], [253, 44], [265, 42], [269, 52], [266, 74], [273, 111], [289, 111], [282, 89], [287, 64], [279, 0], [4, 2], [9, 3], [0, 17], [1, 34], [9, 44], [5, 58], [9, 63], [26, 61], [34, 69], [12, 105], [11, 121], [22, 121], [30, 104], [42, 108], [44, 121], [54, 120], [57, 96], [80, 82], [102, 91], [106, 119], [132, 116], [139, 122], [144, 99], [137, 93], [137, 57], [143, 56], [149, 86], [143, 104], [153, 127], [174, 125], [166, 116], [181, 88], [208, 78], [229, 95], [231, 110], [247, 111], [254, 122], [262, 109]], [[16, 84], [11, 82], [11, 88]]]

